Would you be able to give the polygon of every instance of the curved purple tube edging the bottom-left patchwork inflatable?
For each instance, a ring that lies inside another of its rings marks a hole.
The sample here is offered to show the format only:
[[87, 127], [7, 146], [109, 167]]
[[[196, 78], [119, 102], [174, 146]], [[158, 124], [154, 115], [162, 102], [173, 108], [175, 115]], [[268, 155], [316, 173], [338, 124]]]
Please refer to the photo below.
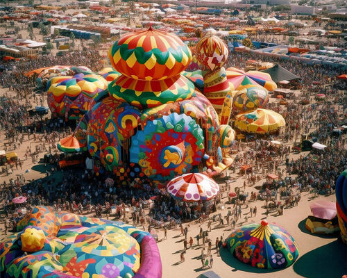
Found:
[[141, 242], [141, 265], [133, 278], [162, 278], [162, 261], [158, 245], [151, 236]]

